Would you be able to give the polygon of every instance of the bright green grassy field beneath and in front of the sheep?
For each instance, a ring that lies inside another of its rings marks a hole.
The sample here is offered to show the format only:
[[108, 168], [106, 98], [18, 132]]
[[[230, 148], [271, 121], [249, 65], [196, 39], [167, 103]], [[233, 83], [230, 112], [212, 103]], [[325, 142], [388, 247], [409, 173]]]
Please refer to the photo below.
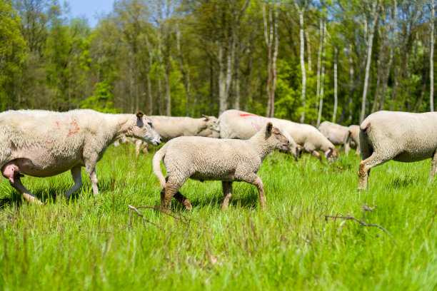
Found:
[[[159, 206], [152, 155], [111, 147], [97, 164], [100, 195], [84, 186], [72, 200], [56, 199], [73, 185], [70, 173], [23, 178], [44, 200], [21, 203], [8, 180], [0, 183], [1, 290], [436, 290], [437, 182], [431, 160], [389, 162], [374, 168], [369, 190], [357, 190], [353, 152], [323, 167], [304, 155], [296, 163], [274, 153], [258, 175], [268, 209], [258, 208], [253, 185], [233, 184], [221, 212], [220, 182], [189, 180], [181, 192], [194, 209], [189, 226]], [[367, 223], [325, 220], [352, 215]], [[395, 241], [396, 240], [396, 241]]]

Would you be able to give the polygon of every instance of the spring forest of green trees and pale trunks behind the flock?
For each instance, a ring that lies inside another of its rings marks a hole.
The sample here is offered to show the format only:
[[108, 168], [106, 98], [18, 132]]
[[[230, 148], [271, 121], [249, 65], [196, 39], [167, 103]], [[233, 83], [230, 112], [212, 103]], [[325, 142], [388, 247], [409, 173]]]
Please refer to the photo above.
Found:
[[116, 0], [95, 27], [57, 0], [0, 0], [0, 111], [318, 125], [433, 111], [433, 0]]

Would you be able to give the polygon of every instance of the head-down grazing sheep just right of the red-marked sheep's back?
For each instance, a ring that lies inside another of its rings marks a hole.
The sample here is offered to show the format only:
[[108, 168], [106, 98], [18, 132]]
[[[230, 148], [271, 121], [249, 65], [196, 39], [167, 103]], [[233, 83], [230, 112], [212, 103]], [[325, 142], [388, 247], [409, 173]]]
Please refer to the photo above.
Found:
[[306, 153], [311, 153], [311, 155], [318, 158], [322, 165], [325, 165], [325, 163], [323, 163], [318, 150], [325, 153], [325, 158], [328, 161], [333, 161], [338, 158], [336, 146], [334, 146], [331, 141], [328, 141], [328, 138], [323, 136], [314, 126], [286, 121], [284, 119], [278, 119], [278, 121], [283, 131], [286, 131], [296, 143], [303, 146], [303, 150], [305, 150]]

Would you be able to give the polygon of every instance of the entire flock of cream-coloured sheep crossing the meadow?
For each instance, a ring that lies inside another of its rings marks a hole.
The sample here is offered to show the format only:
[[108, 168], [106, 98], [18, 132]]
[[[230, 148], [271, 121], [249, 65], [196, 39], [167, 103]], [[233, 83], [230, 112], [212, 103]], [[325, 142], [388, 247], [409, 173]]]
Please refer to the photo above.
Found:
[[[0, 113], [0, 167], [9, 183], [32, 203], [41, 202], [21, 183], [21, 177], [48, 177], [71, 170], [74, 186], [65, 198], [82, 185], [85, 167], [94, 195], [99, 193], [96, 163], [106, 148], [126, 136], [158, 146], [153, 170], [161, 183], [161, 206], [170, 208], [176, 198], [187, 210], [190, 201], [179, 192], [188, 178], [221, 180], [222, 209], [228, 208], [232, 182], [245, 181], [258, 188], [260, 206], [266, 204], [263, 182], [256, 173], [273, 149], [290, 153], [298, 160], [311, 153], [324, 165], [338, 158], [336, 146], [346, 154], [353, 147], [361, 152], [359, 189], [367, 188], [370, 169], [388, 160], [413, 162], [432, 158], [431, 179], [437, 165], [437, 113], [379, 111], [361, 126], [340, 126], [325, 121], [317, 128], [244, 111], [228, 110], [215, 118], [145, 116], [99, 113], [89, 109], [64, 113], [53, 111], [5, 111]], [[161, 173], [161, 160], [167, 178]]]

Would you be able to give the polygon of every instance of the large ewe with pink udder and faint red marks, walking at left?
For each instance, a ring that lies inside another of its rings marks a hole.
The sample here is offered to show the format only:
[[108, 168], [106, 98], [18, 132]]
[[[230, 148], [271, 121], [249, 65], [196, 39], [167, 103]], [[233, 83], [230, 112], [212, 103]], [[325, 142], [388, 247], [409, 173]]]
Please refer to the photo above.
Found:
[[49, 177], [71, 170], [74, 186], [64, 193], [69, 198], [81, 187], [81, 167], [85, 167], [97, 195], [96, 163], [121, 136], [142, 138], [154, 146], [161, 143], [151, 120], [141, 111], [136, 115], [89, 109], [6, 111], [0, 113], [1, 173], [26, 200], [41, 204], [21, 183], [23, 174]]

